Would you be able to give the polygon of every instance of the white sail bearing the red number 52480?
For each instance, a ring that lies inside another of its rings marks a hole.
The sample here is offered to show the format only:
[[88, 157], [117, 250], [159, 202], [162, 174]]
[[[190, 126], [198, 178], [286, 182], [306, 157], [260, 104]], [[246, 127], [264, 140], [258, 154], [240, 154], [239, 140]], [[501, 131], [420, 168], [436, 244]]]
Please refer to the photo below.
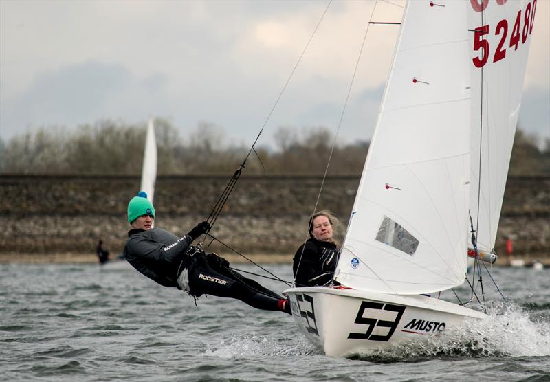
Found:
[[469, 29], [480, 31], [470, 33], [470, 47], [474, 48], [470, 59], [470, 213], [480, 251], [494, 249], [537, 0], [500, 3], [472, 1], [468, 4]]

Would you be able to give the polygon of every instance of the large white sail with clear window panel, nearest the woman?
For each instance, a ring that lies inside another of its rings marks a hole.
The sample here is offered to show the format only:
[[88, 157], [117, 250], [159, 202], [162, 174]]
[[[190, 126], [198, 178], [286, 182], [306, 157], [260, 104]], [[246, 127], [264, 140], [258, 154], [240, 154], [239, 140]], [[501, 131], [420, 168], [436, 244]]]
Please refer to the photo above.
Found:
[[[437, 3], [437, 5], [434, 5]], [[335, 279], [382, 293], [462, 284], [470, 52], [465, 1], [409, 1]]]

